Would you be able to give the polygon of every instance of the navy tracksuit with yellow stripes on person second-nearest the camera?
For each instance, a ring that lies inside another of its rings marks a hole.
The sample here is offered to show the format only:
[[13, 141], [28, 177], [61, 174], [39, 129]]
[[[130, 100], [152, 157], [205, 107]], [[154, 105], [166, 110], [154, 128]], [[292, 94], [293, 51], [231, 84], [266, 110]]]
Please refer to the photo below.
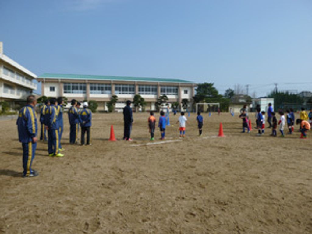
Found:
[[48, 126], [48, 153], [59, 154], [59, 122], [55, 105], [50, 105], [46, 109], [46, 125]]

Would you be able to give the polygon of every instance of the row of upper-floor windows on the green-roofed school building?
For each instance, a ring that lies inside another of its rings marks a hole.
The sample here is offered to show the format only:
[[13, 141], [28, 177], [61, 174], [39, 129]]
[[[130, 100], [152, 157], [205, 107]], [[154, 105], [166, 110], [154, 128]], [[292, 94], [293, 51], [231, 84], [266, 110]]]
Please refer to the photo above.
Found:
[[[55, 87], [50, 86], [50, 91], [54, 92]], [[84, 83], [64, 83], [64, 93], [86, 93], [86, 84]], [[90, 84], [90, 94], [110, 94], [111, 85], [109, 84]], [[187, 94], [188, 90], [184, 90]], [[135, 94], [134, 85], [115, 85], [115, 94]], [[156, 85], [139, 85], [139, 94], [157, 95]], [[178, 95], [177, 86], [161, 86], [161, 95]]]

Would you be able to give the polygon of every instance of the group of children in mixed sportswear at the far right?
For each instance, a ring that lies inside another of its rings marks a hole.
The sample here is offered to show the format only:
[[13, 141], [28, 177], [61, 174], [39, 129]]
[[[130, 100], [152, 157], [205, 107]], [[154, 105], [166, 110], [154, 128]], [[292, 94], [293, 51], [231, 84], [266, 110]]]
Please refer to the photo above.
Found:
[[[257, 107], [257, 112], [256, 112], [256, 128], [258, 129], [258, 134], [257, 136], [261, 136], [262, 134], [265, 133], [265, 123], [266, 123], [266, 112], [265, 111], [261, 111], [261, 109], [259, 107]], [[277, 122], [277, 119], [275, 117], [275, 112], [271, 112], [271, 116], [272, 116], [272, 133], [271, 136], [277, 136], [276, 133], [276, 129], [277, 129], [277, 125], [279, 125], [279, 130], [280, 130], [280, 137], [285, 137], [284, 134], [284, 128], [285, 128], [285, 123], [287, 122], [287, 127], [289, 132], [287, 134], [293, 134], [294, 132], [294, 124], [296, 122], [296, 124], [300, 125], [300, 133], [301, 136], [300, 138], [306, 138], [306, 132], [308, 130], [310, 130], [310, 126], [312, 123], [312, 110], [310, 111], [309, 114], [307, 114], [307, 112], [305, 111], [304, 108], [301, 108], [301, 112], [300, 112], [300, 118], [297, 119], [295, 121], [295, 114], [293, 109], [290, 110], [286, 110], [286, 118], [285, 118], [285, 114], [282, 110], [280, 110], [279, 112], [280, 115], [280, 119]], [[245, 133], [245, 129], [247, 129], [247, 133], [250, 133], [250, 122], [248, 122], [248, 115], [247, 115], [247, 110], [246, 109], [242, 109], [241, 110], [241, 115], [239, 116], [239, 118], [242, 119], [243, 121], [243, 131], [242, 133]], [[269, 121], [269, 120], [268, 120]], [[271, 125], [270, 127], [271, 128]]]

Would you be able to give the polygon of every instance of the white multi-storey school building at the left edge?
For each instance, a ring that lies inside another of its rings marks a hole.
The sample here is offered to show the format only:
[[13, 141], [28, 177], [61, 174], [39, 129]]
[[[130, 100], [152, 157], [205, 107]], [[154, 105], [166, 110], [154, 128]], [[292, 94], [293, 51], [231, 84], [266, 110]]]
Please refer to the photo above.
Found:
[[0, 42], [0, 102], [9, 102], [12, 109], [16, 102], [25, 101], [37, 89], [36, 78], [34, 73], [6, 56]]

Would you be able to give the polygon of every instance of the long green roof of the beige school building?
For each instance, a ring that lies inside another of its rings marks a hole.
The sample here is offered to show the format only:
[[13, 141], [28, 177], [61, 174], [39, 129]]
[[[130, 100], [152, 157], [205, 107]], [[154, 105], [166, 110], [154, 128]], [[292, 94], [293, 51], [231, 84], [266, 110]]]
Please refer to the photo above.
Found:
[[130, 76], [95, 76], [95, 75], [78, 75], [78, 74], [57, 74], [44, 73], [38, 78], [49, 79], [73, 79], [73, 80], [120, 80], [120, 81], [146, 81], [146, 82], [171, 82], [171, 83], [193, 83], [188, 80], [171, 79], [171, 78], [149, 78], [149, 77], [130, 77]]

